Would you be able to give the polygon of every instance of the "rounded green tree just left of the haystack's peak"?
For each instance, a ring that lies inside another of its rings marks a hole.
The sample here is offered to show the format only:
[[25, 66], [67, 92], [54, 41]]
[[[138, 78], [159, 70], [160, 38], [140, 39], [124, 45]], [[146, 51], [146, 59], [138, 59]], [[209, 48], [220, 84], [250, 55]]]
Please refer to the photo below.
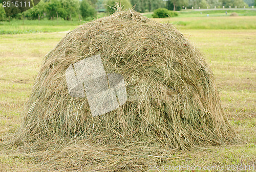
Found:
[[96, 10], [87, 0], [82, 0], [80, 4], [81, 15], [84, 19], [96, 16]]

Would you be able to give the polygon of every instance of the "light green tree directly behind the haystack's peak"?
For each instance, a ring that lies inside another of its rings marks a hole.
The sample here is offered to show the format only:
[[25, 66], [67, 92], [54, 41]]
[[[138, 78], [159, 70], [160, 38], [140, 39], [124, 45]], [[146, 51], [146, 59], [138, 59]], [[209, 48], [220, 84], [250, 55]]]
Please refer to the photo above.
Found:
[[115, 9], [116, 3], [120, 4], [120, 6], [123, 7], [124, 9], [132, 8], [132, 5], [129, 0], [106, 0], [105, 1], [106, 12], [113, 14], [116, 11]]

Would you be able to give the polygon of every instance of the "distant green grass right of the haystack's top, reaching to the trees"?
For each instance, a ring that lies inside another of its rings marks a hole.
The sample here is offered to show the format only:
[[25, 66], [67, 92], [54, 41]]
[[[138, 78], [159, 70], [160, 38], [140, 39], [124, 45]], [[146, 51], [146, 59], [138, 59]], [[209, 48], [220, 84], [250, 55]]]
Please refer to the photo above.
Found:
[[[227, 15], [225, 11], [228, 12]], [[233, 12], [238, 13], [239, 16], [229, 16]], [[178, 17], [153, 18], [153, 20], [173, 23], [178, 29], [256, 29], [256, 10], [182, 10], [178, 13]], [[152, 18], [152, 13], [143, 13], [143, 15]]]

